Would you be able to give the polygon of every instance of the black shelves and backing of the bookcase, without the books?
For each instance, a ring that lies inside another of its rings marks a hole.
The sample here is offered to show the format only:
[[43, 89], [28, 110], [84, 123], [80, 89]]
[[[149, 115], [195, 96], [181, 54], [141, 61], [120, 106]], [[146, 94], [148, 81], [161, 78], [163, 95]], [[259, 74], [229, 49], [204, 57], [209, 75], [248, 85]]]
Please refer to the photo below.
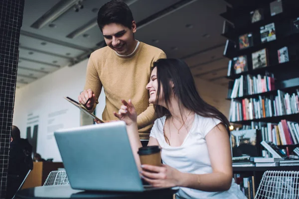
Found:
[[[236, 80], [240, 78], [241, 75], [247, 76], [252, 75], [256, 76], [258, 74], [264, 76], [266, 74], [273, 74], [275, 78], [275, 90], [246, 95], [242, 97], [234, 98], [233, 100], [243, 100], [245, 98], [257, 98], [258, 96], [277, 96], [277, 91], [281, 90], [286, 93], [295, 92], [298, 86], [284, 85], [289, 86], [283, 88], [281, 84], [285, 80], [294, 79], [299, 77], [299, 31], [294, 31], [292, 27], [292, 22], [294, 19], [299, 17], [299, 1], [298, 0], [282, 0], [283, 3], [283, 12], [278, 13], [274, 16], [271, 16], [270, 2], [274, 0], [225, 0], [227, 5], [227, 11], [221, 13], [225, 20], [229, 21], [231, 26], [227, 26], [224, 30], [225, 33], [222, 33], [222, 36], [226, 37], [230, 42], [227, 42], [228, 48], [226, 57], [233, 59], [238, 56], [246, 55], [247, 56], [247, 68], [248, 71], [240, 74], [231, 74], [227, 76], [227, 79]], [[260, 21], [251, 23], [250, 11], [262, 8], [264, 11], [264, 18]], [[273, 41], [262, 43], [260, 27], [265, 26], [270, 23], [275, 23], [275, 34], [276, 39]], [[252, 42], [253, 45], [244, 49], [239, 49], [239, 36], [252, 33]], [[232, 47], [233, 44], [236, 44], [236, 47]], [[283, 47], [288, 47], [289, 60], [285, 63], [279, 63], [277, 51]], [[261, 50], [267, 49], [267, 67], [257, 68], [253, 70], [252, 67], [252, 53]], [[233, 66], [231, 66], [233, 70]], [[232, 100], [227, 98], [226, 100]], [[231, 123], [251, 125], [251, 122], [272, 122], [278, 123], [282, 119], [288, 121], [299, 122], [299, 113], [280, 115], [273, 117], [264, 117], [251, 120], [242, 120], [234, 121]], [[278, 145], [281, 149], [289, 148], [290, 151], [293, 151], [297, 145]], [[233, 172], [235, 174], [244, 174], [244, 176], [254, 176], [255, 179], [255, 190], [257, 191], [259, 183], [262, 179], [264, 172], [266, 171], [299, 171], [299, 166], [277, 166], [277, 167], [233, 167]]]

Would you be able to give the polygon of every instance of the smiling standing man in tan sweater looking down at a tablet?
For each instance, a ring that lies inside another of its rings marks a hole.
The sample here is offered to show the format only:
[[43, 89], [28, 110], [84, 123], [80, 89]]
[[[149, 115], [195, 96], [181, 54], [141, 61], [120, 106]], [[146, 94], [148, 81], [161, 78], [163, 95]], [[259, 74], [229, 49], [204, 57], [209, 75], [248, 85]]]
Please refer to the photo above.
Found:
[[106, 95], [103, 120], [116, 120], [121, 100], [136, 104], [141, 139], [149, 139], [154, 121], [154, 109], [149, 104], [146, 86], [153, 62], [166, 58], [153, 46], [135, 40], [136, 22], [129, 6], [119, 0], [104, 4], [98, 12], [98, 25], [106, 47], [94, 51], [89, 58], [84, 91], [78, 97], [82, 104], [94, 111], [102, 87]]

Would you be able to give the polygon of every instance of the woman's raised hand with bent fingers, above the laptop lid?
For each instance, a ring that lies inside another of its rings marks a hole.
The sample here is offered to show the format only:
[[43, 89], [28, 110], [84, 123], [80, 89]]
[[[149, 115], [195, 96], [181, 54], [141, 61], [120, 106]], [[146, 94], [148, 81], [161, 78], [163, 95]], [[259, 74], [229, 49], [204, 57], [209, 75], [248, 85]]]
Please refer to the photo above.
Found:
[[137, 113], [135, 110], [134, 105], [132, 104], [131, 100], [122, 100], [123, 105], [121, 106], [121, 109], [118, 113], [113, 112], [114, 115], [119, 118], [120, 120], [123, 120], [126, 122], [128, 126], [130, 126], [133, 123], [137, 123]]

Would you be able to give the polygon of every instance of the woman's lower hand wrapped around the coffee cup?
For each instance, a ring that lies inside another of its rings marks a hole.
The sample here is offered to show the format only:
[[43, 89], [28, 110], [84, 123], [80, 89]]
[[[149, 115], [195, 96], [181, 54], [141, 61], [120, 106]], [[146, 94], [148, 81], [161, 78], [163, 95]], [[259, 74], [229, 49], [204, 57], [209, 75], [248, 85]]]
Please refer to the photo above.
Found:
[[153, 187], [179, 187], [182, 174], [178, 170], [168, 166], [162, 165], [142, 165], [140, 172], [142, 178], [145, 179]]

